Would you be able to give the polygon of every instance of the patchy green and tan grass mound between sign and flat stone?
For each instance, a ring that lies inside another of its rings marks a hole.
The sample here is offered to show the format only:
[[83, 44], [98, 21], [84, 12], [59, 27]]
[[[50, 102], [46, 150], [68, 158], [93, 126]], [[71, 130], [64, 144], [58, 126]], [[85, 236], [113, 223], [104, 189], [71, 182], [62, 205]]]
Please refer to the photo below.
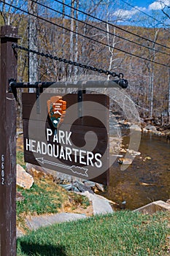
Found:
[[67, 192], [62, 187], [48, 179], [36, 180], [31, 189], [20, 189], [18, 192], [24, 197], [24, 200], [17, 202], [17, 215], [40, 215], [54, 214], [58, 212], [63, 203], [70, 202], [72, 208], [81, 205], [87, 208], [90, 205], [87, 197]]

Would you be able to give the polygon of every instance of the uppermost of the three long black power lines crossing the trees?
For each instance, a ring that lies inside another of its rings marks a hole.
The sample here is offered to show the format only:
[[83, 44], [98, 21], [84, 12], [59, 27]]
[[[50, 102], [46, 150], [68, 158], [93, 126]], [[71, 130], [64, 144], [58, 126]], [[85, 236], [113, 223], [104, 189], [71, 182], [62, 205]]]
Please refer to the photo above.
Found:
[[96, 19], [96, 20], [98, 20], [98, 21], [100, 21], [100, 22], [103, 22], [103, 23], [109, 25], [109, 26], [113, 26], [113, 27], [115, 27], [116, 29], [120, 29], [120, 30], [122, 30], [122, 31], [124, 31], [124, 32], [126, 32], [126, 33], [128, 33], [128, 34], [131, 34], [131, 35], [133, 35], [133, 36], [135, 36], [135, 37], [139, 37], [139, 38], [141, 38], [141, 39], [147, 40], [148, 42], [155, 43], [155, 45], [162, 46], [163, 48], [170, 49], [170, 48], [169, 48], [168, 46], [166, 46], [166, 45], [161, 45], [159, 42], [154, 42], [154, 41], [152, 41], [152, 40], [149, 39], [149, 38], [139, 36], [139, 34], [135, 34], [134, 32], [125, 30], [125, 29], [121, 28], [120, 26], [113, 25], [112, 23], [109, 23], [109, 22], [107, 22], [107, 21], [105, 21], [105, 20], [101, 20], [100, 18], [97, 18], [97, 17], [95, 17], [95, 16], [93, 16], [93, 15], [90, 15], [90, 14], [88, 14], [87, 12], [83, 12], [83, 11], [80, 10], [80, 9], [77, 9], [77, 8], [75, 8], [75, 7], [71, 7], [71, 6], [69, 6], [69, 4], [62, 3], [61, 1], [58, 1], [58, 0], [54, 0], [54, 1], [58, 2], [59, 4], [63, 4], [63, 5], [65, 5], [66, 7], [69, 7], [69, 8], [71, 8], [71, 9], [73, 9], [73, 10], [77, 10], [77, 12], [81, 12], [82, 14], [87, 15], [87, 16], [89, 16], [90, 18]]

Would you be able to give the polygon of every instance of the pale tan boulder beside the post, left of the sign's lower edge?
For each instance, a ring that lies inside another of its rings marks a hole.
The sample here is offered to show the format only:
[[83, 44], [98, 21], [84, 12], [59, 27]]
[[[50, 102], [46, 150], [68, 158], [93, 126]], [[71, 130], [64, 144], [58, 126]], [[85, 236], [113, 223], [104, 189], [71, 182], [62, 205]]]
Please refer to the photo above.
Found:
[[23, 169], [19, 164], [17, 165], [17, 185], [23, 187], [23, 189], [30, 189], [34, 184], [34, 178], [26, 173], [26, 170]]

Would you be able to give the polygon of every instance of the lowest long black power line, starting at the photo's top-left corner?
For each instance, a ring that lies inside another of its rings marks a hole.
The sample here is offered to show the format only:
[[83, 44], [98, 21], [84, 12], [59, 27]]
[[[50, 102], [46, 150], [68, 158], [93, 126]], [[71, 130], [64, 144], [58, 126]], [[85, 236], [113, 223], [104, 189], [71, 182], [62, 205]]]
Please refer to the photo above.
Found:
[[[0, 1], [3, 2], [2, 0], [0, 0]], [[99, 43], [99, 44], [101, 44], [101, 45], [104, 45], [104, 46], [113, 48], [113, 49], [118, 50], [118, 51], [120, 51], [120, 52], [122, 52], [122, 53], [128, 54], [128, 55], [130, 55], [130, 56], [134, 56], [134, 57], [139, 58], [139, 59], [142, 59], [142, 60], [144, 60], [144, 61], [149, 61], [149, 62], [152, 62], [152, 63], [154, 63], [154, 64], [161, 65], [161, 66], [163, 66], [163, 67], [169, 67], [169, 65], [166, 65], [166, 64], [163, 64], [163, 63], [160, 63], [160, 62], [157, 62], [157, 61], [152, 61], [151, 59], [147, 59], [147, 58], [144, 58], [144, 57], [142, 57], [142, 56], [138, 56], [138, 55], [136, 55], [136, 54], [134, 54], [134, 53], [128, 53], [128, 52], [125, 51], [125, 50], [120, 50], [119, 48], [112, 47], [112, 45], [108, 45], [108, 44], [106, 44], [106, 43], [104, 43], [104, 42], [99, 42], [99, 41], [96, 40], [96, 39], [87, 37], [87, 36], [85, 36], [84, 34], [80, 34], [80, 33], [76, 32], [76, 31], [72, 31], [71, 29], [68, 29], [68, 28], [66, 28], [66, 27], [64, 27], [64, 26], [58, 25], [58, 24], [56, 24], [56, 23], [53, 23], [53, 21], [46, 20], [45, 18], [42, 18], [42, 17], [40, 17], [39, 15], [34, 15], [33, 13], [30, 13], [30, 12], [28, 12], [28, 11], [26, 11], [26, 10], [20, 9], [19, 7], [15, 7], [15, 6], [12, 5], [12, 4], [8, 4], [8, 3], [5, 3], [5, 4], [7, 4], [7, 5], [9, 5], [10, 7], [13, 7], [13, 8], [15, 8], [15, 9], [17, 9], [17, 10], [20, 10], [21, 12], [25, 12], [25, 13], [27, 13], [28, 15], [34, 16], [34, 17], [36, 17], [36, 18], [39, 18], [40, 20], [44, 20], [44, 21], [46, 21], [47, 23], [50, 23], [50, 24], [52, 24], [52, 25], [54, 25], [54, 26], [58, 26], [58, 27], [61, 28], [61, 29], [66, 29], [67, 31], [70, 31], [70, 32], [72, 32], [72, 33], [74, 33], [74, 34], [78, 34], [78, 35], [80, 35], [81, 37], [85, 37], [86, 39], [90, 39], [90, 40], [93, 41], [93, 42], [97, 42], [97, 43]]]

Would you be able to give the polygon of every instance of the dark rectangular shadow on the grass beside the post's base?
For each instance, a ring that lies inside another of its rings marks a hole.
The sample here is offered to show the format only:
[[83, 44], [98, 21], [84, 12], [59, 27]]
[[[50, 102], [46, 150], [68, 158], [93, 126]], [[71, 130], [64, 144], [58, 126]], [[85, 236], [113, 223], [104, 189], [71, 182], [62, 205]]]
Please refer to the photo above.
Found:
[[25, 241], [20, 241], [20, 251], [24, 255], [68, 256], [64, 246], [32, 244]]

